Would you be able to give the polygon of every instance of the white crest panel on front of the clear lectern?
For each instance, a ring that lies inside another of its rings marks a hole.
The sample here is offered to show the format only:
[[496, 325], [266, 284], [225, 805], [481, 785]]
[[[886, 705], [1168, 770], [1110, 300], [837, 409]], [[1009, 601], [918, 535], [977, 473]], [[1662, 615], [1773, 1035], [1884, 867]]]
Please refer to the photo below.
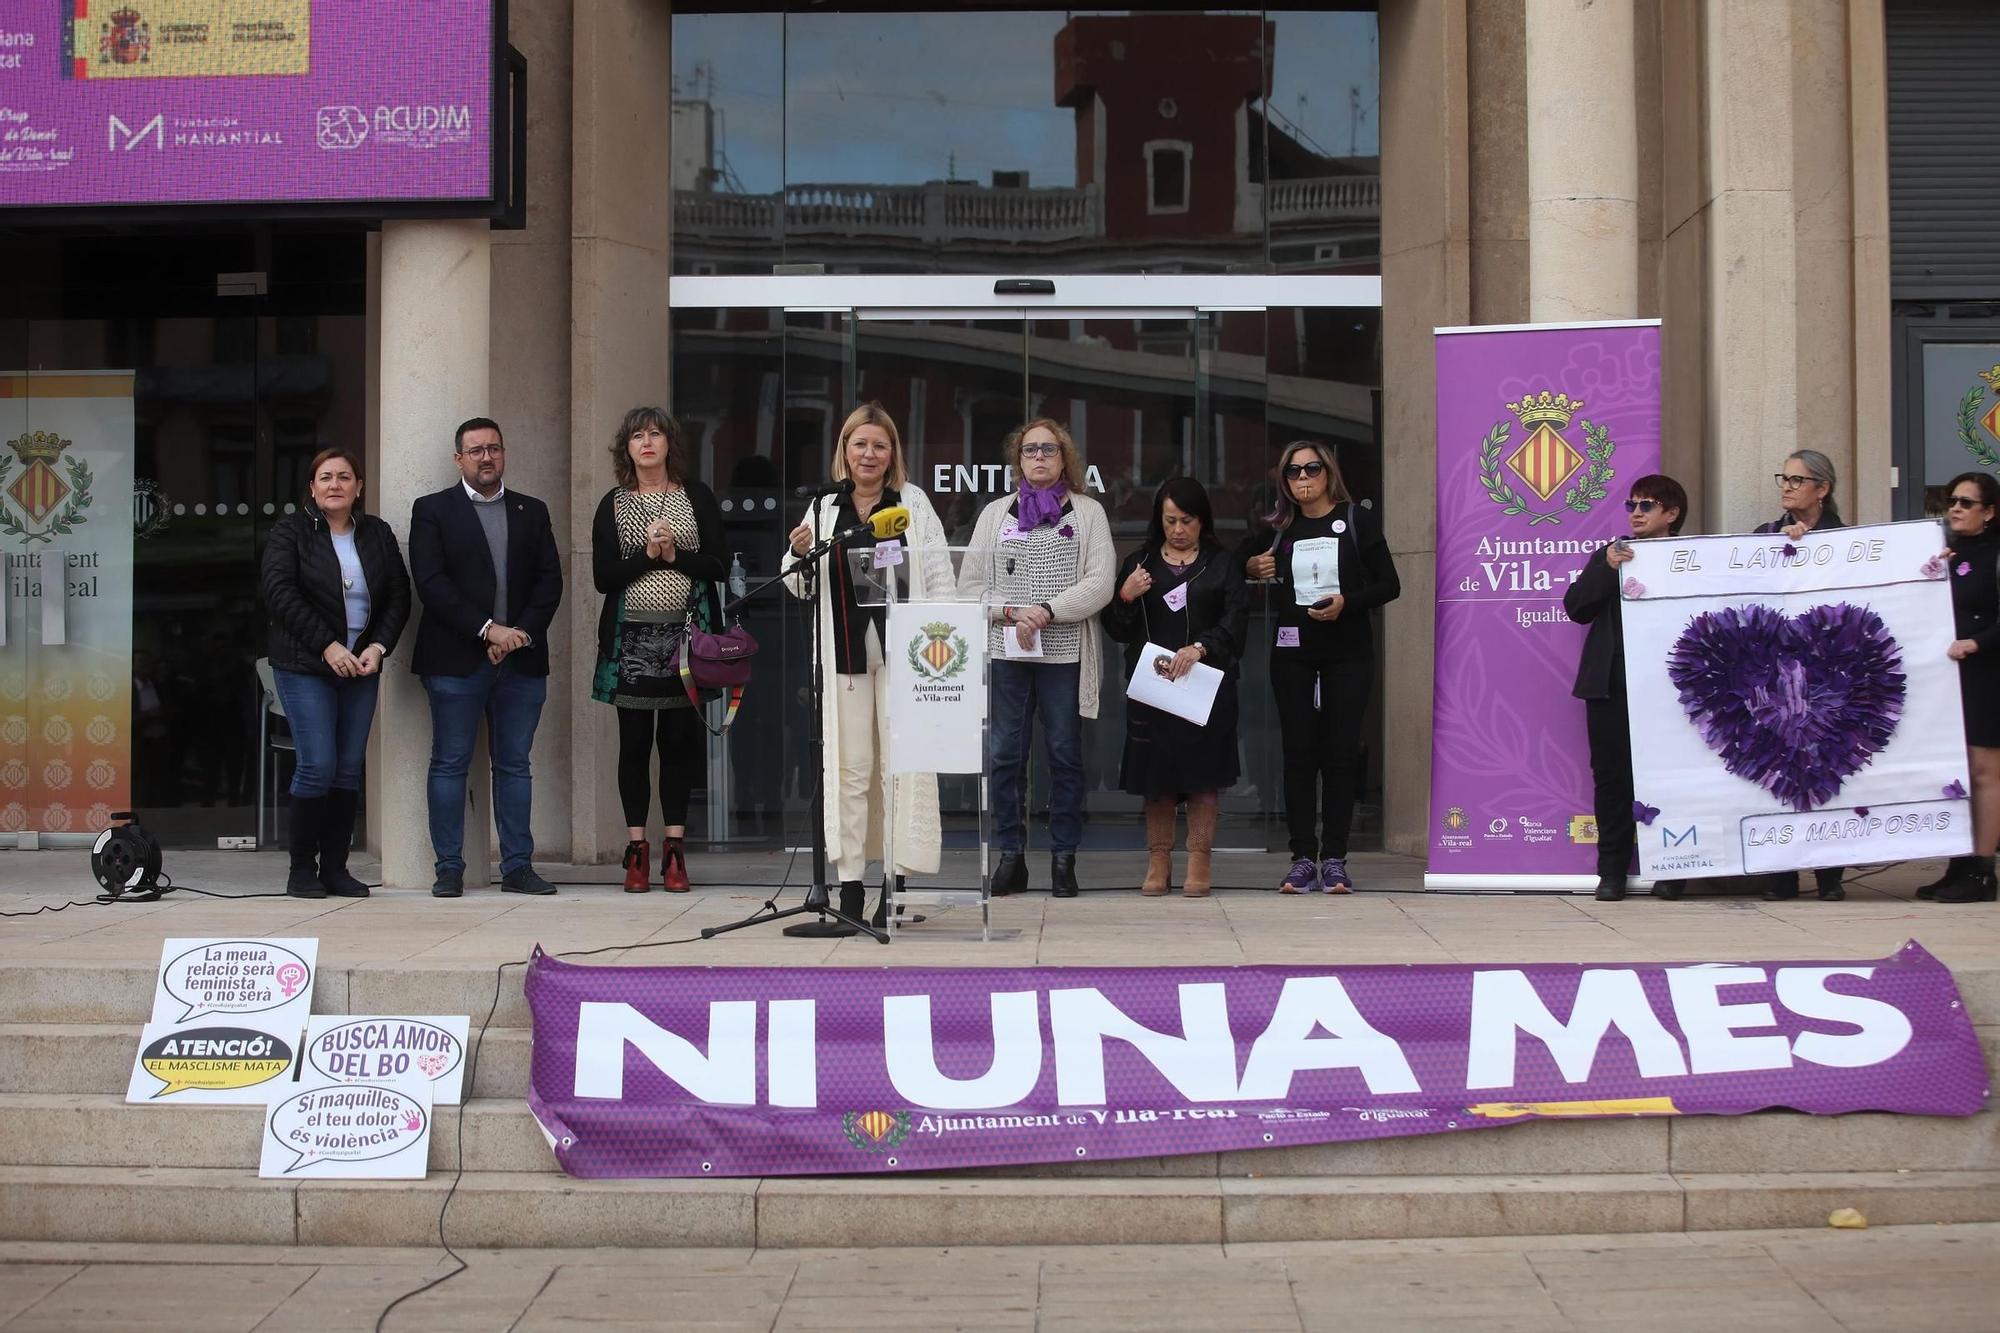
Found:
[[888, 745], [894, 773], [982, 773], [986, 608], [898, 602], [888, 608]]

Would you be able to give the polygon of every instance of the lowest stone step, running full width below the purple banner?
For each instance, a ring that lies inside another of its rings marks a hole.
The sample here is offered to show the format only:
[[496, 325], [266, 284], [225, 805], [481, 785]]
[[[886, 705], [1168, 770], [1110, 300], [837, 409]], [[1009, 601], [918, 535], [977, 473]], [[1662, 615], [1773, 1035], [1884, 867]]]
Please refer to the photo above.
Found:
[[[450, 1173], [260, 1181], [216, 1167], [0, 1167], [0, 1239], [430, 1245]], [[1216, 1245], [1992, 1221], [2000, 1171], [1274, 1179], [570, 1181], [468, 1171], [472, 1247]]]

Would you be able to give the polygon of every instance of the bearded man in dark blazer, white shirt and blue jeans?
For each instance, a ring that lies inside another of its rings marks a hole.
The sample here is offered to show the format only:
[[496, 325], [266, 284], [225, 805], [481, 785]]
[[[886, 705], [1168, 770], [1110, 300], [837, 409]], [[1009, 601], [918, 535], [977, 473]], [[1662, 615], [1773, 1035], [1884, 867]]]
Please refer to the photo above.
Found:
[[466, 771], [480, 719], [492, 751], [500, 885], [554, 893], [534, 873], [528, 751], [548, 697], [548, 626], [562, 602], [562, 562], [548, 506], [508, 490], [506, 442], [484, 416], [458, 426], [460, 480], [410, 510], [410, 580], [424, 604], [410, 666], [430, 695], [430, 893], [464, 893]]

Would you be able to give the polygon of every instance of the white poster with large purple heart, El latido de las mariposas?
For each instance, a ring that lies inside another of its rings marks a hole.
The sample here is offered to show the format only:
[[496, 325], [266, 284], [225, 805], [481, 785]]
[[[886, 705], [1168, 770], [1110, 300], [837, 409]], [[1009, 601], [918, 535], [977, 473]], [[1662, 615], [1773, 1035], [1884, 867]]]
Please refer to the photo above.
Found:
[[1970, 849], [1940, 524], [1632, 548], [1622, 612], [1642, 875]]

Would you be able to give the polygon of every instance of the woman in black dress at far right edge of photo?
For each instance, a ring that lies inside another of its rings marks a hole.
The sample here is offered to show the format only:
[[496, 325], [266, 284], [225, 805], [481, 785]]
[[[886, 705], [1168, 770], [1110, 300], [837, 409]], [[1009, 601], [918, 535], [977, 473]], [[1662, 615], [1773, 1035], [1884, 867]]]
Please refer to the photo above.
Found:
[[1988, 472], [1952, 478], [1944, 552], [1952, 580], [1958, 697], [1966, 711], [1966, 761], [1972, 767], [1972, 855], [1956, 857], [1944, 879], [1918, 889], [1940, 903], [1994, 901], [1994, 847], [2000, 845], [2000, 480]]

